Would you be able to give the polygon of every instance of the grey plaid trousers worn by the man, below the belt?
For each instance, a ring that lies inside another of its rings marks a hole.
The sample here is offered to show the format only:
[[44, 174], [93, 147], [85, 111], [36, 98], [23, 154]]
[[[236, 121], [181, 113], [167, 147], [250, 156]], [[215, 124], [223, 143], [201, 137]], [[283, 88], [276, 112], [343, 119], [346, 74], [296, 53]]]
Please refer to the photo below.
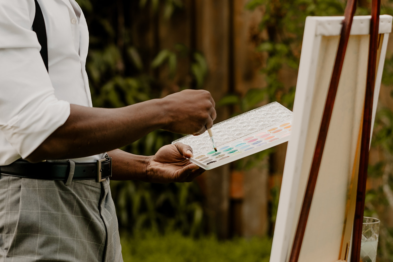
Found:
[[0, 262], [122, 262], [109, 179], [0, 177]]

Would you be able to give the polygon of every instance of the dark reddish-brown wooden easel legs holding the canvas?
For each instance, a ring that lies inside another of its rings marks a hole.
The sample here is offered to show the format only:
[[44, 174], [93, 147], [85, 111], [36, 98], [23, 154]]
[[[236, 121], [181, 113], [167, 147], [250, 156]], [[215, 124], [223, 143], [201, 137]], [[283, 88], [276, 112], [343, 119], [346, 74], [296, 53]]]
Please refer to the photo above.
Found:
[[[323, 149], [325, 146], [325, 141], [327, 137], [327, 131], [329, 129], [329, 124], [332, 116], [334, 100], [336, 98], [338, 82], [340, 80], [340, 75], [342, 71], [343, 61], [345, 52], [347, 49], [347, 44], [349, 40], [349, 34], [351, 31], [352, 21], [354, 12], [356, 10], [356, 0], [349, 0], [345, 8], [344, 20], [342, 23], [342, 30], [340, 35], [340, 42], [338, 45], [338, 51], [336, 55], [336, 60], [334, 62], [334, 68], [332, 72], [332, 78], [329, 85], [329, 90], [326, 98], [325, 108], [323, 111], [320, 131], [318, 134], [318, 140], [316, 148], [314, 151], [314, 157], [311, 164], [311, 170], [309, 179], [307, 182], [307, 187], [305, 191], [305, 196], [303, 204], [301, 207], [300, 217], [298, 221], [298, 227], [296, 229], [294, 244], [290, 253], [289, 262], [298, 262], [299, 253], [301, 249], [301, 244], [303, 241], [303, 236], [305, 233], [307, 219], [310, 212], [312, 197], [314, 194], [316, 181], [318, 177], [318, 172], [320, 169]], [[371, 23], [370, 23], [370, 39], [369, 39], [369, 55], [367, 64], [367, 82], [365, 89], [365, 101], [364, 101], [364, 112], [360, 140], [360, 155], [358, 157], [358, 179], [356, 179], [356, 173], [354, 173], [353, 186], [357, 182], [356, 190], [356, 208], [354, 211], [353, 220], [353, 238], [352, 238], [352, 251], [351, 251], [351, 261], [358, 262], [360, 260], [360, 244], [362, 237], [362, 223], [363, 223], [363, 213], [364, 213], [364, 201], [365, 201], [365, 185], [367, 180], [367, 166], [369, 159], [369, 144], [370, 144], [370, 133], [371, 133], [371, 117], [373, 109], [373, 95], [375, 87], [375, 72], [376, 72], [376, 57], [378, 48], [378, 25], [379, 25], [379, 15], [380, 15], [380, 0], [373, 0], [372, 10], [371, 10]], [[357, 168], [354, 168], [357, 170]], [[354, 190], [353, 190], [354, 192]], [[343, 244], [342, 244], [343, 247]], [[344, 259], [347, 259], [348, 245], [344, 247]]]

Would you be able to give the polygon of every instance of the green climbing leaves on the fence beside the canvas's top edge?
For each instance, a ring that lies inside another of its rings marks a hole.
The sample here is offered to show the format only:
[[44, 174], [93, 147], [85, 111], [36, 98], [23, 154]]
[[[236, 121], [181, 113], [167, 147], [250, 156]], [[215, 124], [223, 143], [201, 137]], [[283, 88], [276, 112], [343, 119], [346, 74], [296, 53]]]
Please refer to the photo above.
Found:
[[344, 6], [342, 0], [251, 0], [246, 4], [250, 10], [264, 9], [259, 28], [267, 37], [261, 40], [256, 50], [267, 55], [261, 73], [266, 76], [263, 90], [268, 102], [278, 101], [287, 107], [293, 105], [295, 87], [284, 87], [280, 74], [283, 68], [298, 69], [305, 18], [342, 15]]

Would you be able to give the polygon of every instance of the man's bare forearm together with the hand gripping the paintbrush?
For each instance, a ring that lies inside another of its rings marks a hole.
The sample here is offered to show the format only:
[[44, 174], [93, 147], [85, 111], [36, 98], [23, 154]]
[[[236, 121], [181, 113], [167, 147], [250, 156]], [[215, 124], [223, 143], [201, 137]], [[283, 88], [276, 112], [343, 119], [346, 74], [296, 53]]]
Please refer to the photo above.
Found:
[[67, 121], [26, 159], [69, 159], [96, 155], [130, 144], [155, 129], [202, 134], [216, 118], [205, 90], [183, 90], [161, 99], [116, 109], [71, 105]]

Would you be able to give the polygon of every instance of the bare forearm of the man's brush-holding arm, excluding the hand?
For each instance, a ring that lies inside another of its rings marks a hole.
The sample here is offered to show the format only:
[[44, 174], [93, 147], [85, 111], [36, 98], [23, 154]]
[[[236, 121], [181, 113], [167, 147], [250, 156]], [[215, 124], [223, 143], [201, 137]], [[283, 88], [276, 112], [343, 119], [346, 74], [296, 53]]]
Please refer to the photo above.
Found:
[[116, 109], [71, 105], [64, 125], [26, 159], [38, 162], [85, 157], [130, 144], [165, 125], [160, 102], [154, 99]]

